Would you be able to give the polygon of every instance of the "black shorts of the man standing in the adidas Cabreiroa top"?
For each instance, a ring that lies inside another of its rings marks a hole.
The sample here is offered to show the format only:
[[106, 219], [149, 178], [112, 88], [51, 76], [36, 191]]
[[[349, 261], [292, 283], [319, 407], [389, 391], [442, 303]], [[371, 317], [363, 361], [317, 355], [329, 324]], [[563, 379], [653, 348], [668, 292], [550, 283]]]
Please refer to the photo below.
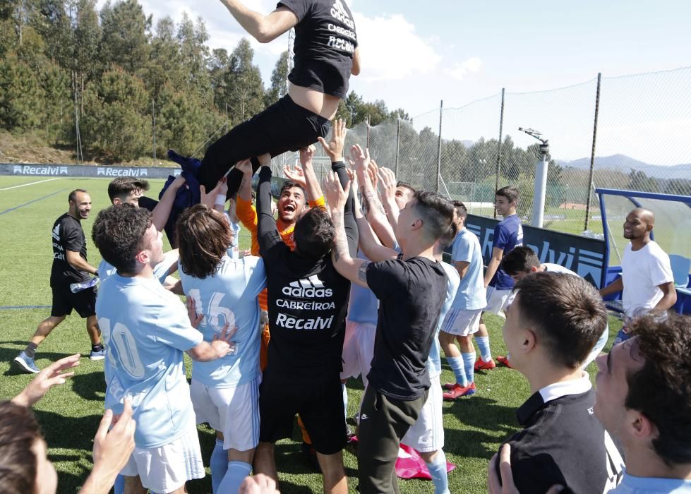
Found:
[[346, 426], [339, 373], [320, 380], [287, 380], [267, 369], [259, 387], [259, 440], [291, 437], [296, 414], [317, 452], [340, 452], [346, 444]]

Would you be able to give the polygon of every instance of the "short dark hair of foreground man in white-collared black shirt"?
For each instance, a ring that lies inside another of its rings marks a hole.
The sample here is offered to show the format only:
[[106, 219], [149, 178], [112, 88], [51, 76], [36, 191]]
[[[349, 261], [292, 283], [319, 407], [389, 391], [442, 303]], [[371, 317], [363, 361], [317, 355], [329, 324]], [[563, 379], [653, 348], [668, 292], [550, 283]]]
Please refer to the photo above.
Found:
[[581, 277], [557, 272], [531, 273], [515, 289], [513, 305], [539, 333], [552, 361], [577, 368], [607, 325], [599, 292]]

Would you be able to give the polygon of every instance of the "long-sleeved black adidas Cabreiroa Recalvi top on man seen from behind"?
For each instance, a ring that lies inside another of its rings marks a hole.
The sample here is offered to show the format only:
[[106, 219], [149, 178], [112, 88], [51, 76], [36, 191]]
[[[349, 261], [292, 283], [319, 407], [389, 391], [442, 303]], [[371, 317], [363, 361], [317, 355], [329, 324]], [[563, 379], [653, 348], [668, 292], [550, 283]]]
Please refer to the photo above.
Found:
[[[311, 378], [341, 370], [350, 282], [335, 269], [331, 254], [304, 258], [282, 241], [270, 211], [271, 170], [263, 167], [257, 194], [258, 240], [266, 269], [271, 339], [270, 370]], [[351, 210], [344, 215], [351, 252], [357, 227]]]

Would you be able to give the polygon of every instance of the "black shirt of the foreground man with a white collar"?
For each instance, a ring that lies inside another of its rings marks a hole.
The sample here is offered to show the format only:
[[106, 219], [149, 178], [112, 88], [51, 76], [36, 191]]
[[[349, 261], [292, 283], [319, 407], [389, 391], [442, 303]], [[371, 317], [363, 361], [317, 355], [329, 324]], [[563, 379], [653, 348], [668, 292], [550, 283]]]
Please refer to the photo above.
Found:
[[622, 460], [595, 417], [594, 404], [593, 389], [547, 403], [536, 392], [517, 410], [524, 429], [507, 442], [514, 482], [521, 493], [543, 494], [560, 484], [567, 493], [592, 494], [618, 485]]

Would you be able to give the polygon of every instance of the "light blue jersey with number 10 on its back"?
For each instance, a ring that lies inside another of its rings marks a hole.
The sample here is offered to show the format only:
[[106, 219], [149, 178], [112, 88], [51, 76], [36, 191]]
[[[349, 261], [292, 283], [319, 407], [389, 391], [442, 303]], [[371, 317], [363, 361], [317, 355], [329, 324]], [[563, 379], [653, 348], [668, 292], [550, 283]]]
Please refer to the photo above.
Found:
[[160, 447], [186, 433], [194, 411], [183, 352], [203, 335], [180, 299], [156, 279], [117, 273], [100, 287], [96, 315], [110, 372], [105, 407], [121, 414], [132, 397], [137, 447]]

